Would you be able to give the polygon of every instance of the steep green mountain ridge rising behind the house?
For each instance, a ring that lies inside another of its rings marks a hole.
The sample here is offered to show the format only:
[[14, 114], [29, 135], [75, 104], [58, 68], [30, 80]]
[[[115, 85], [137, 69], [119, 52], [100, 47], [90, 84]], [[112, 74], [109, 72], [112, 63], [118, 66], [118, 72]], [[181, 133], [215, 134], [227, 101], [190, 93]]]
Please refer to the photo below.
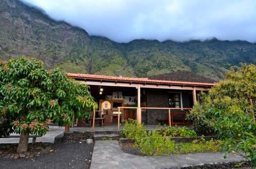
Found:
[[256, 64], [256, 44], [247, 41], [133, 40], [115, 43], [17, 0], [0, 1], [0, 60], [22, 55], [42, 60], [46, 69], [58, 66], [73, 73], [150, 77], [190, 71], [223, 79], [230, 66]]

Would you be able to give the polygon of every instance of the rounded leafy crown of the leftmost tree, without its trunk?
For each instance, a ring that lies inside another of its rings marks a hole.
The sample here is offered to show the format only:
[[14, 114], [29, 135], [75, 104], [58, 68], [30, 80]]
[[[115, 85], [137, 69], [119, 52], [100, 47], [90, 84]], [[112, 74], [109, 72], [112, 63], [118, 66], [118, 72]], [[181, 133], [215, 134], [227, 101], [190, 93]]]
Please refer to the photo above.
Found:
[[0, 117], [5, 125], [14, 126], [16, 133], [45, 134], [52, 113], [52, 81], [42, 62], [10, 60], [0, 67], [0, 83]]

